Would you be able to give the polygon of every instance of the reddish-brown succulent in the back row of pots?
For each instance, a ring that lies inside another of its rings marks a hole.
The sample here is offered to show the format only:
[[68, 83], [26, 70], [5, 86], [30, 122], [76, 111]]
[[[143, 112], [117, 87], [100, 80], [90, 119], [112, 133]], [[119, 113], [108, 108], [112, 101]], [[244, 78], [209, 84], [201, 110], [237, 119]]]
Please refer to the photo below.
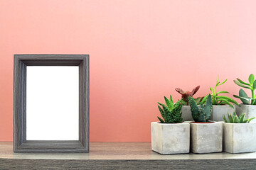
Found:
[[[176, 88], [175, 90], [181, 94], [181, 98], [183, 99], [181, 102], [183, 105], [188, 105], [188, 97], [191, 96], [193, 97], [194, 94], [196, 94], [196, 92], [199, 90], [200, 86], [196, 86], [195, 89], [193, 89], [192, 91], [186, 91], [184, 92], [182, 89]], [[203, 97], [198, 97], [195, 98], [196, 103], [200, 103], [202, 101]]]

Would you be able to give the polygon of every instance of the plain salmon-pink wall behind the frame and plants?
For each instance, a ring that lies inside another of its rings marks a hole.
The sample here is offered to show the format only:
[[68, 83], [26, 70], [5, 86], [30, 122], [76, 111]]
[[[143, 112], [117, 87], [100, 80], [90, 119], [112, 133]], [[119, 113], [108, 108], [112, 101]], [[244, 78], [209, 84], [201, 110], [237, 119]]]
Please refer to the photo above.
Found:
[[12, 141], [13, 55], [90, 54], [90, 140], [150, 141], [157, 101], [255, 73], [256, 1], [0, 0], [0, 141]]

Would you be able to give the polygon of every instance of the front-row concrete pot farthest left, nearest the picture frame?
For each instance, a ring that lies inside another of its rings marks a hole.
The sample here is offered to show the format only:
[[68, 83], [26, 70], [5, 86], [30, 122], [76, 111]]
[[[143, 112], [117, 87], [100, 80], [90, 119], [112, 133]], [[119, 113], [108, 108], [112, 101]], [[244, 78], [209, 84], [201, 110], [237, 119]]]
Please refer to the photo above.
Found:
[[159, 154], [189, 153], [189, 123], [151, 123], [151, 148]]

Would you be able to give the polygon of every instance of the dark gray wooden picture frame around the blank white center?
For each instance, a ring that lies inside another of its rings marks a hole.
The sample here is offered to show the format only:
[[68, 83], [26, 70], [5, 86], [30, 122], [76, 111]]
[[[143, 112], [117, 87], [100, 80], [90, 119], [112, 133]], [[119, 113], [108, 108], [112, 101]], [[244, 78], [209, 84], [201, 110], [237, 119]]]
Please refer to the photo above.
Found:
[[[79, 140], [26, 140], [26, 67], [79, 67]], [[89, 152], [89, 55], [14, 55], [14, 152]]]

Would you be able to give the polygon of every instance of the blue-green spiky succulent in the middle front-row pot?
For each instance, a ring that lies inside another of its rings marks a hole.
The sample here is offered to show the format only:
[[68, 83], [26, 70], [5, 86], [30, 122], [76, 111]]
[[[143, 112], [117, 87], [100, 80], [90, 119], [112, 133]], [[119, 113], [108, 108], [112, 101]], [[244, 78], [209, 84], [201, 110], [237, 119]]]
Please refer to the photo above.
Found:
[[213, 109], [212, 96], [210, 94], [207, 97], [206, 105], [201, 103], [198, 106], [191, 96], [188, 97], [188, 103], [191, 106], [191, 113], [195, 122], [208, 122]]

